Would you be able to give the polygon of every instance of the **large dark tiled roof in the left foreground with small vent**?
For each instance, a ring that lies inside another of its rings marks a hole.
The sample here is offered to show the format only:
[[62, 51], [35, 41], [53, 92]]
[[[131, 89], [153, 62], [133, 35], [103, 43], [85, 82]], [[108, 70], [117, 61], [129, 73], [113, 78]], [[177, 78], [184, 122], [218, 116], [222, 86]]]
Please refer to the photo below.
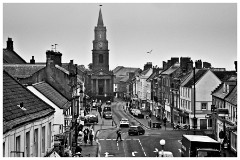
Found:
[[[17, 106], [21, 102], [26, 110]], [[54, 112], [53, 107], [3, 71], [3, 133]]]

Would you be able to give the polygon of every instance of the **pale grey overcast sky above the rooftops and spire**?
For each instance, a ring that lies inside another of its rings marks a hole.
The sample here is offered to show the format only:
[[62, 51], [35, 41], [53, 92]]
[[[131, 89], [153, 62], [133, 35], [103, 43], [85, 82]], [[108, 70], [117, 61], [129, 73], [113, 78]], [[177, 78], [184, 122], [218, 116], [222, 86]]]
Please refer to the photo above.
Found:
[[[237, 60], [237, 4], [102, 3], [110, 69], [152, 62], [162, 67], [171, 57], [201, 59], [215, 68], [234, 70]], [[46, 61], [46, 50], [58, 44], [62, 62], [92, 62], [99, 3], [4, 3], [3, 48], [27, 62]], [[152, 50], [151, 54], [147, 52]]]

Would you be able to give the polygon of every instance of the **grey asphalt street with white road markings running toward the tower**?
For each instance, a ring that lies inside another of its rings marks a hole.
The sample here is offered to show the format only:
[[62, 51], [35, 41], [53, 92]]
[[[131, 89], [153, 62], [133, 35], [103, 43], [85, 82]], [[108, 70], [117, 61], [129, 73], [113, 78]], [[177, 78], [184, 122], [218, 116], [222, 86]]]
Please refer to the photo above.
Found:
[[[123, 110], [124, 104], [124, 102], [112, 103], [113, 120], [118, 126], [121, 118], [127, 118], [130, 125], [139, 125], [139, 122]], [[103, 124], [107, 125], [112, 120], [103, 119], [103, 121]], [[123, 141], [116, 141], [117, 128], [102, 130], [99, 133], [98, 138], [101, 145], [101, 157], [156, 157], [156, 152], [154, 151], [156, 151], [156, 149], [159, 151], [162, 150], [159, 143], [161, 139], [165, 139], [166, 141], [164, 151], [170, 151], [174, 157], [180, 157], [180, 140], [184, 131], [148, 129], [143, 126], [145, 129], [144, 135], [129, 136], [128, 128], [121, 128]]]

